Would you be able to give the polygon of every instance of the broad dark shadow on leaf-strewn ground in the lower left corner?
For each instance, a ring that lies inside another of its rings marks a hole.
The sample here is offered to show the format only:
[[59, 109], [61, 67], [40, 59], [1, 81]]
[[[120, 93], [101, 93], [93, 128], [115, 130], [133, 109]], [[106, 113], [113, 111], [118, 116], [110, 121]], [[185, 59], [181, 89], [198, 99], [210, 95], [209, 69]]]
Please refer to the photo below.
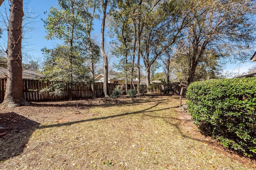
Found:
[[23, 152], [26, 144], [40, 123], [32, 121], [15, 112], [0, 113], [0, 126], [8, 127], [1, 133], [8, 133], [0, 137], [0, 161], [7, 160]]

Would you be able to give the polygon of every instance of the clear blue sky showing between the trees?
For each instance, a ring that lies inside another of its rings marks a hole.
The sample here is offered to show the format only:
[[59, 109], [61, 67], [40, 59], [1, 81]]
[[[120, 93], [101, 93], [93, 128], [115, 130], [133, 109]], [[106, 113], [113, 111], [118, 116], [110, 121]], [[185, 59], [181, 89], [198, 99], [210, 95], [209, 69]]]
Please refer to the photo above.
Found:
[[[8, 6], [8, 0], [5, 0], [2, 6], [0, 7], [0, 12], [3, 15], [4, 13], [4, 6]], [[24, 12], [33, 12], [34, 16], [38, 16], [36, 19], [37, 22], [33, 22], [30, 25], [33, 26], [35, 29], [28, 30], [28, 34], [26, 37], [30, 37], [27, 40], [29, 41], [28, 46], [26, 46], [28, 53], [28, 57], [24, 56], [24, 62], [29, 60], [40, 60], [43, 61], [44, 57], [42, 55], [42, 52], [40, 51], [42, 48], [53, 48], [56, 43], [60, 43], [60, 41], [57, 40], [46, 40], [44, 36], [46, 36], [46, 32], [44, 29], [44, 23], [41, 19], [46, 19], [47, 14], [44, 14], [44, 12], [48, 12], [51, 6], [58, 6], [58, 0], [24, 0]], [[1, 18], [0, 18], [1, 20]], [[94, 35], [100, 35], [100, 27], [101, 22], [96, 21], [94, 25]], [[1, 25], [2, 27], [2, 25]], [[100, 39], [100, 37], [98, 37]], [[2, 35], [2, 38], [0, 39], [0, 45], [6, 49], [7, 44], [7, 34], [4, 33]], [[256, 49], [255, 49], [256, 50]], [[253, 54], [252, 54], [253, 55]], [[248, 59], [249, 60], [249, 59]], [[237, 63], [237, 64], [228, 64], [224, 66], [225, 71], [229, 72], [247, 72], [248, 68], [251, 68], [252, 66], [256, 66], [256, 62], [246, 62], [246, 63]]]

